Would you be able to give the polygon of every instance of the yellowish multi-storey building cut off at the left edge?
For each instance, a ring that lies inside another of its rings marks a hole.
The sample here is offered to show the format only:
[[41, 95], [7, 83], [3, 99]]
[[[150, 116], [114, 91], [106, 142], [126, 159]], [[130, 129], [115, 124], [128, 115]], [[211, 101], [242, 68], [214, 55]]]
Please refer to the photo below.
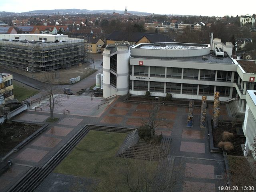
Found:
[[0, 73], [0, 104], [8, 99], [14, 99], [12, 74]]

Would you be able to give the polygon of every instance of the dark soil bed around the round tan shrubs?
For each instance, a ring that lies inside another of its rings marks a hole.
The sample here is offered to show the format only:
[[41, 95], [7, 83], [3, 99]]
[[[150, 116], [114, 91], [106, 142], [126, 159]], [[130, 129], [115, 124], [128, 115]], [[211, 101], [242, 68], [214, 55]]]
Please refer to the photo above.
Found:
[[[212, 125], [213, 127], [213, 125]], [[236, 129], [242, 128], [242, 122], [220, 121], [217, 129], [212, 129], [214, 147], [218, 147], [218, 143], [222, 141], [222, 133], [224, 131], [234, 134], [234, 139], [230, 140], [234, 149], [228, 152], [228, 155], [243, 156], [241, 144], [245, 144], [245, 137], [238, 136]]]

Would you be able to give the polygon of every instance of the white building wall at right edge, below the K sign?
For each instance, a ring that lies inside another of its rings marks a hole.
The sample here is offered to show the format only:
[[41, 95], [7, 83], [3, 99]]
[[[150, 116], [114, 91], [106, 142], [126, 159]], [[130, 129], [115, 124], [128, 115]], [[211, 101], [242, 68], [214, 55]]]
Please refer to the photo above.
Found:
[[[247, 156], [249, 150], [253, 150], [252, 144], [256, 136], [256, 91], [247, 90], [246, 111], [244, 117], [243, 131], [246, 136], [244, 155]], [[253, 154], [256, 160], [256, 154]]]

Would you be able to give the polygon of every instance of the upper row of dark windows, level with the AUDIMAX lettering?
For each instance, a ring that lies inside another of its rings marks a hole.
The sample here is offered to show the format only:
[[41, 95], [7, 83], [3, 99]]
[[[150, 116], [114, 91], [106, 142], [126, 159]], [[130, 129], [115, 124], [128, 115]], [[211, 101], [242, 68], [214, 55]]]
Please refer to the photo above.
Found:
[[[198, 69], [184, 68], [184, 79], [198, 80]], [[218, 71], [217, 81], [231, 82], [231, 71]], [[148, 66], [134, 66], [135, 76], [148, 76]], [[216, 70], [200, 70], [200, 80], [215, 81]], [[162, 77], [165, 76], [165, 67], [150, 67], [150, 77]], [[182, 76], [182, 68], [167, 68], [167, 78], [179, 78]], [[236, 79], [236, 78], [235, 78]], [[238, 79], [238, 77], [237, 77]]]

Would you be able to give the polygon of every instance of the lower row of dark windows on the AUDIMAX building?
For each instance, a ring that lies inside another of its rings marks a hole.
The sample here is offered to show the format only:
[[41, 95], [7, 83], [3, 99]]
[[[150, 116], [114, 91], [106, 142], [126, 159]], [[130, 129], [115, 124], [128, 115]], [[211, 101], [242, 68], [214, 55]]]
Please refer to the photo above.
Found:
[[[166, 83], [166, 93], [178, 93], [180, 94], [180, 83]], [[198, 85], [196, 84], [182, 84], [182, 94], [197, 94]], [[134, 90], [147, 91], [147, 81], [134, 80]], [[164, 82], [151, 82], [149, 83], [149, 90], [152, 92], [164, 92]], [[229, 97], [230, 87], [216, 86], [216, 91], [220, 92], [220, 96]], [[212, 85], [199, 85], [199, 95], [213, 96], [214, 86]]]

